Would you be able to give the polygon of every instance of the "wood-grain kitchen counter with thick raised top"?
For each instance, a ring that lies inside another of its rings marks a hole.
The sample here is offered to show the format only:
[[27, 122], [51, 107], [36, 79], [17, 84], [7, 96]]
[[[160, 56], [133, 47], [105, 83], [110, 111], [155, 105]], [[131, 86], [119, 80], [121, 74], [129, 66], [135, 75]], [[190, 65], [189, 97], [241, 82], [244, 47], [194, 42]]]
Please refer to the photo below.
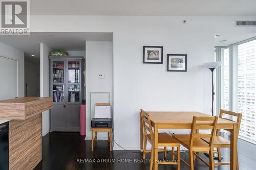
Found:
[[34, 169], [42, 159], [42, 115], [52, 98], [0, 101], [0, 119], [9, 119], [9, 169]]

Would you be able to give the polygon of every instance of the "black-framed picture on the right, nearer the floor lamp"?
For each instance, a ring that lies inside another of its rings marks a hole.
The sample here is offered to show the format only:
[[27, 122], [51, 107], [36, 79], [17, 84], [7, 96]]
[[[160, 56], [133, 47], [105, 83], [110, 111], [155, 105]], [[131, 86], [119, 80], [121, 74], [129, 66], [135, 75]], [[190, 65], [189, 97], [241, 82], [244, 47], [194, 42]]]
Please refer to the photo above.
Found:
[[187, 71], [186, 54], [167, 54], [167, 71]]

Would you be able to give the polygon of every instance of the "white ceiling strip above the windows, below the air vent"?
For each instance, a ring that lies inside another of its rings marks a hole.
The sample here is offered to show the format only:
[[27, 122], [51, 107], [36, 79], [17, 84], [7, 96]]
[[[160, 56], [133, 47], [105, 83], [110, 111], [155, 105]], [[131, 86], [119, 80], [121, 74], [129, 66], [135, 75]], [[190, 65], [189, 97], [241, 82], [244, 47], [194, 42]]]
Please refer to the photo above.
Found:
[[[220, 36], [215, 38], [215, 46], [228, 46], [243, 40], [247, 40], [249, 38], [256, 37], [256, 33], [251, 34], [220, 34]], [[226, 40], [226, 42], [222, 43], [220, 41]]]

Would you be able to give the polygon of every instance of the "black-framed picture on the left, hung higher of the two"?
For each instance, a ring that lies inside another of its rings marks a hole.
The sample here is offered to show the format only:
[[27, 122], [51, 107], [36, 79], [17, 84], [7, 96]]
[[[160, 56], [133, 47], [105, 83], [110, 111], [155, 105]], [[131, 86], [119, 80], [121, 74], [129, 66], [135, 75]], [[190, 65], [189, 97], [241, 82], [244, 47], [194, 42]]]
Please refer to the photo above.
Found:
[[143, 46], [143, 63], [163, 64], [163, 46]]

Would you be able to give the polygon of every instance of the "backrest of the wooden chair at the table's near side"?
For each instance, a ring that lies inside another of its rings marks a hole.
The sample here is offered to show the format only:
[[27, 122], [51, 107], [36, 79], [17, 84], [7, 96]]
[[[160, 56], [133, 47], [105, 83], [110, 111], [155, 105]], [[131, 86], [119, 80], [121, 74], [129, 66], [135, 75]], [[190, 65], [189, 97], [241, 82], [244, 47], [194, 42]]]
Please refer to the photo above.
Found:
[[[191, 132], [189, 138], [190, 148], [193, 147], [195, 138], [209, 138], [209, 147], [213, 147], [214, 136], [216, 134], [218, 117], [212, 116], [193, 116], [193, 122], [191, 125]], [[200, 130], [205, 130], [204, 133], [200, 133]], [[210, 132], [208, 132], [210, 130]]]

